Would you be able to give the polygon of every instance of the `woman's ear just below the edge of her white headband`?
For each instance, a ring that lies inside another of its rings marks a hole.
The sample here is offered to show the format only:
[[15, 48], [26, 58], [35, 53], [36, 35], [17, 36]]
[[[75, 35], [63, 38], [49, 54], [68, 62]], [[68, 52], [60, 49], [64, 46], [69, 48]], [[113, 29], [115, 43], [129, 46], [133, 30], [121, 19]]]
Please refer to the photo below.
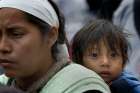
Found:
[[58, 28], [51, 27], [50, 31], [47, 33], [46, 36], [47, 45], [49, 44], [52, 46], [57, 41], [57, 38], [58, 38]]

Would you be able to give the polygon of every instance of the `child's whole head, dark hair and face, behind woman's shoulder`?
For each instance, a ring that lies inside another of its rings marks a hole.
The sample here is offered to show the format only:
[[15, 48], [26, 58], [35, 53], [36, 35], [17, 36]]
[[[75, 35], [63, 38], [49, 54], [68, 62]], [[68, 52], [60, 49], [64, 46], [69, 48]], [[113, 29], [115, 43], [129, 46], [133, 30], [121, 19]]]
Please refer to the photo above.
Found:
[[97, 72], [107, 84], [120, 76], [128, 60], [127, 34], [106, 20], [94, 20], [73, 38], [74, 62]]

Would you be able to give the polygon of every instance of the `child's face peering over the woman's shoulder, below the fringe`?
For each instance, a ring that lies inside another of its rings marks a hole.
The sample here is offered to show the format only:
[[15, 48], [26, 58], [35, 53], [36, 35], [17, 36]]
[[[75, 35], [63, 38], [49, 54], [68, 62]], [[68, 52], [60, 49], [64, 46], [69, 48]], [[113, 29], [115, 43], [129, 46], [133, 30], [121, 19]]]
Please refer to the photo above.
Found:
[[123, 69], [121, 52], [111, 51], [103, 42], [94, 46], [90, 51], [87, 49], [83, 55], [83, 64], [87, 68], [97, 72], [108, 84], [116, 79]]

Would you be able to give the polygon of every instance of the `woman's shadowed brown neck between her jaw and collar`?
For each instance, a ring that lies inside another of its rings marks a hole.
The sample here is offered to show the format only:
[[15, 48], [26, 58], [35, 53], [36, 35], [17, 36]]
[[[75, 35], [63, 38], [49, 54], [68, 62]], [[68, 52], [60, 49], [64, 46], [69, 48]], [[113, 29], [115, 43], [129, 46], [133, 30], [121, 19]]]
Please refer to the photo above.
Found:
[[[47, 62], [46, 62], [47, 63]], [[15, 86], [20, 88], [23, 91], [29, 90], [35, 84], [39, 84], [38, 82], [45, 76], [47, 76], [49, 70], [53, 67], [55, 62], [49, 60], [49, 64], [43, 64], [40, 70], [34, 72], [31, 76], [24, 77], [24, 78], [16, 78], [15, 79]]]

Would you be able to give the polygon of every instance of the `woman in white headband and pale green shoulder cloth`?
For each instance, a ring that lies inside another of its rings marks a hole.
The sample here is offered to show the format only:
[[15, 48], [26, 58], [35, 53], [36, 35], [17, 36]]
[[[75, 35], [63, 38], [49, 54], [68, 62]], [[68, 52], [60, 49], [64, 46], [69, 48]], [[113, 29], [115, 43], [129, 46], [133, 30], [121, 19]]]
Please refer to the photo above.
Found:
[[51, 0], [1, 0], [0, 82], [28, 93], [109, 93], [96, 73], [69, 64], [63, 21]]

